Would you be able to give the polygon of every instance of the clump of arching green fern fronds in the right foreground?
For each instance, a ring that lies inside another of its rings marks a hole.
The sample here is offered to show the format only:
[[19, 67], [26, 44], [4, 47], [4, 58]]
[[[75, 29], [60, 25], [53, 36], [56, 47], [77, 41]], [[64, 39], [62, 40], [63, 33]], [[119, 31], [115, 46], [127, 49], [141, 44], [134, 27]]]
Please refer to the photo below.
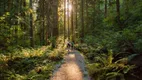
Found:
[[119, 77], [125, 80], [124, 75], [134, 68], [126, 64], [125, 59], [113, 62], [113, 53], [96, 55], [93, 63], [87, 65], [89, 74], [95, 80], [110, 80]]

